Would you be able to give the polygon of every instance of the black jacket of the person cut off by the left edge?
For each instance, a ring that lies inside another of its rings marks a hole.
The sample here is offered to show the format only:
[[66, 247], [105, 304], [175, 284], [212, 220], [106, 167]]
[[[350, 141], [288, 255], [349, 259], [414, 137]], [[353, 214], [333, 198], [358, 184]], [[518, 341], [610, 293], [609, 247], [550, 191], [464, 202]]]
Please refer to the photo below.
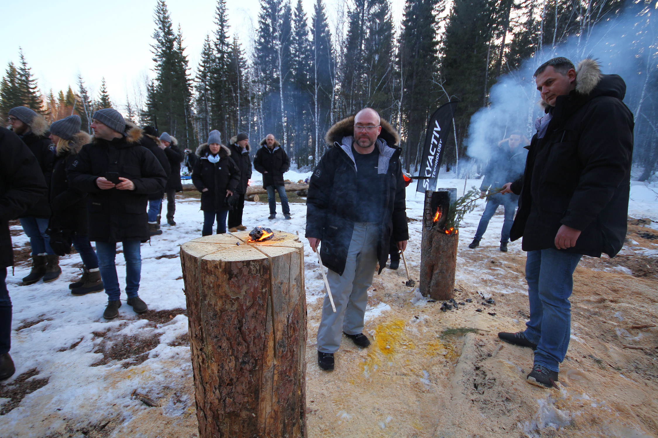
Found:
[[39, 162], [18, 135], [0, 127], [0, 268], [13, 265], [9, 221], [47, 196]]

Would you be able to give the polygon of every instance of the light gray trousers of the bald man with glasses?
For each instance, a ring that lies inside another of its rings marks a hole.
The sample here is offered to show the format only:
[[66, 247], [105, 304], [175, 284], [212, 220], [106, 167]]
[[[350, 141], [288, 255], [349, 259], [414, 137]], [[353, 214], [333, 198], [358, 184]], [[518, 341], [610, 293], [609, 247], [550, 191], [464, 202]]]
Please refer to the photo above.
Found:
[[336, 313], [332, 310], [329, 296], [325, 294], [322, 321], [318, 327], [318, 351], [336, 353], [343, 331], [353, 335], [363, 332], [368, 288], [377, 266], [379, 234], [380, 226], [377, 223], [355, 223], [343, 275], [328, 269], [327, 280]]

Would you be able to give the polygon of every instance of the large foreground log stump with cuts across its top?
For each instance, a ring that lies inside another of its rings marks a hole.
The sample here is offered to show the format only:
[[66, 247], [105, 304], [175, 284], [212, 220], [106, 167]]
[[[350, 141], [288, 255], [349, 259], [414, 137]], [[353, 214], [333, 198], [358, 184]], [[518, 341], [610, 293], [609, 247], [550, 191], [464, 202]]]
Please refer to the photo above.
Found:
[[306, 437], [306, 298], [299, 237], [246, 231], [183, 244], [201, 438]]

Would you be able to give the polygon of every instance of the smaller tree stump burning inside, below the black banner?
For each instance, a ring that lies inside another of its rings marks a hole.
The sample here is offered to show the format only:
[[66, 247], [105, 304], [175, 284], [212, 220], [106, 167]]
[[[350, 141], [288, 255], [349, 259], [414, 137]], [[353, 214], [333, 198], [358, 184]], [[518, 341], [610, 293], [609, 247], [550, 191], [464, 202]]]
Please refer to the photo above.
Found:
[[424, 297], [445, 300], [455, 296], [459, 234], [455, 229], [446, 229], [445, 224], [456, 198], [456, 188], [425, 192], [420, 243], [420, 294]]

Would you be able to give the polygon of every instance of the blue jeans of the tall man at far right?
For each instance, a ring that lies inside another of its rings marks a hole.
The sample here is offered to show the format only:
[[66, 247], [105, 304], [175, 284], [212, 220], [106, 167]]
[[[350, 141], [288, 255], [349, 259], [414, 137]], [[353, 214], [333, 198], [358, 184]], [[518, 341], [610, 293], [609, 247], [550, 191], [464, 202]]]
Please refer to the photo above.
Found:
[[565, 360], [571, 336], [573, 273], [580, 254], [549, 248], [529, 251], [526, 280], [530, 299], [530, 320], [524, 334], [537, 345], [534, 363], [558, 372]]

